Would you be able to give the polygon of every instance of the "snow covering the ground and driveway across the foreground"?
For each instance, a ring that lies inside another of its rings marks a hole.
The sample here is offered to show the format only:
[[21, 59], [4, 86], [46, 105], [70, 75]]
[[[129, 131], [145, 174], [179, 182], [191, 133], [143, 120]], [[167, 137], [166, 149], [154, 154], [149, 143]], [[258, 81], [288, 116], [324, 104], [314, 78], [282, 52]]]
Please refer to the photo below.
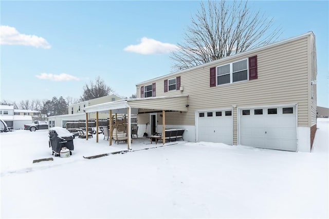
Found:
[[[76, 138], [70, 157], [51, 155], [47, 131], [0, 134], [1, 217], [329, 217], [329, 120], [318, 119], [312, 153], [215, 143], [133, 150], [99, 135]], [[53, 161], [32, 164], [53, 157]]]

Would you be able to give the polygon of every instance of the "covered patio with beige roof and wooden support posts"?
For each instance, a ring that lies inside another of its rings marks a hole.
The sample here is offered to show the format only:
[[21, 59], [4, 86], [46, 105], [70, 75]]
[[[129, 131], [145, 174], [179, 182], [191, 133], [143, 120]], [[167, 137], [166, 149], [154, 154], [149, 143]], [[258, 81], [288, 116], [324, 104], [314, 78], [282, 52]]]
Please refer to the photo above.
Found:
[[[148, 97], [148, 98], [136, 98], [136, 99], [123, 99], [120, 101], [109, 102], [104, 104], [98, 104], [89, 106], [84, 109], [86, 115], [86, 121], [88, 121], [88, 113], [96, 112], [96, 130], [99, 129], [98, 125], [98, 114], [99, 112], [108, 113], [109, 116], [109, 146], [112, 146], [113, 141], [113, 124], [112, 117], [117, 114], [125, 114], [127, 118], [126, 126], [126, 143], [127, 149], [131, 149], [133, 138], [131, 136], [132, 124], [131, 116], [133, 114], [140, 113], [162, 113], [162, 133], [161, 140], [162, 144], [165, 144], [165, 127], [166, 127], [166, 112], [186, 112], [188, 110], [188, 95], [176, 95], [176, 96], [161, 96], [161, 97]], [[117, 121], [117, 120], [116, 120]], [[86, 122], [86, 130], [88, 130], [88, 123]], [[116, 130], [117, 131], [117, 130]], [[88, 141], [88, 138], [86, 138]], [[89, 139], [90, 141], [90, 139]], [[134, 138], [135, 141], [135, 138]], [[99, 136], [96, 134], [96, 143], [99, 142]], [[151, 144], [151, 142], [150, 142]]]

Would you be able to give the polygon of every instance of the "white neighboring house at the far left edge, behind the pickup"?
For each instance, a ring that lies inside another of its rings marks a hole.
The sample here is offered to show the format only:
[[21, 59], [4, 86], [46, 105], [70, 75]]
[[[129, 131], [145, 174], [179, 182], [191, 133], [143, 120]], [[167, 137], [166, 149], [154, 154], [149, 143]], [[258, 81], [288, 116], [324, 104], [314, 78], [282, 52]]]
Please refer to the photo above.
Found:
[[31, 115], [16, 113], [14, 106], [0, 105], [0, 119], [13, 129], [24, 129], [24, 124], [32, 123]]

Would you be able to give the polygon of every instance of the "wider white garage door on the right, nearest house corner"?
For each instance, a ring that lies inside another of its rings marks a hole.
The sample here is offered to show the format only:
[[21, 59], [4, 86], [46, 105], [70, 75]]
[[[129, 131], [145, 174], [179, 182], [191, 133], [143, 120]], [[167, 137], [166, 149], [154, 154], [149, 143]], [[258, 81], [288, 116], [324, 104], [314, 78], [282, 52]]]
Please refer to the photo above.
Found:
[[240, 109], [240, 144], [297, 151], [296, 107]]

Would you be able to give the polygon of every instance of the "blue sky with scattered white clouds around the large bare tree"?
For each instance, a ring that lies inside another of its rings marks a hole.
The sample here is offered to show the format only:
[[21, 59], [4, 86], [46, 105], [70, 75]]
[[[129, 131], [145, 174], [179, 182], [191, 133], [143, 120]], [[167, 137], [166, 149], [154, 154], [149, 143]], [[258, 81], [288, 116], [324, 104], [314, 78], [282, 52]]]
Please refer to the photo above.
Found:
[[[198, 1], [1, 1], [0, 98], [79, 98], [97, 76], [120, 96], [171, 72]], [[282, 27], [316, 35], [318, 106], [328, 103], [328, 1], [249, 1]], [[3, 37], [3, 34], [7, 34]], [[15, 40], [10, 38], [15, 36]]]

